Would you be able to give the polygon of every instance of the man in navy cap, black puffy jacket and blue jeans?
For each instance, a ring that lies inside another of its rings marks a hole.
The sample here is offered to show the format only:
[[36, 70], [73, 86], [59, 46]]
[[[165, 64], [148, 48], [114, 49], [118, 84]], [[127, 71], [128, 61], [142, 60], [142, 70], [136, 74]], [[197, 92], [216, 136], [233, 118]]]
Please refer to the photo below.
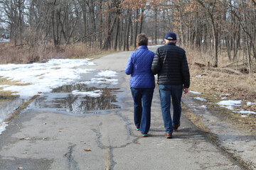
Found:
[[[151, 72], [158, 74], [161, 111], [164, 119], [165, 137], [172, 138], [174, 130], [181, 125], [181, 96], [188, 93], [190, 74], [186, 52], [176, 46], [176, 34], [167, 33], [164, 46], [159, 47], [154, 55]], [[173, 105], [173, 120], [171, 119], [171, 101]]]

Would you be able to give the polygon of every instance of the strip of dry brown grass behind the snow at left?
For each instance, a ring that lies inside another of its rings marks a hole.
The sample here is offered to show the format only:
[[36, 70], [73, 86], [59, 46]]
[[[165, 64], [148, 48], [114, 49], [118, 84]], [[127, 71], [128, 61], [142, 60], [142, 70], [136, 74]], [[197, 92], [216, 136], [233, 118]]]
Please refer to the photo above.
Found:
[[50, 59], [80, 59], [90, 58], [113, 51], [100, 50], [97, 47], [88, 47], [84, 43], [76, 43], [71, 45], [60, 46], [59, 50], [55, 50], [53, 45], [36, 45], [31, 47], [28, 45], [15, 46], [11, 42], [1, 42], [0, 46], [0, 64], [24, 64], [33, 62], [46, 62]]

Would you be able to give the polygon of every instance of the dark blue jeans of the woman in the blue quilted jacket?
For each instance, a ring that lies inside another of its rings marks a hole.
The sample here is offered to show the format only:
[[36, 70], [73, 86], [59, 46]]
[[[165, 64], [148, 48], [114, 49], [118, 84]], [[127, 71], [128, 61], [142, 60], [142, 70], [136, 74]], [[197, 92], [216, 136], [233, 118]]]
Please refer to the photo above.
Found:
[[154, 94], [152, 88], [132, 88], [134, 99], [134, 123], [142, 133], [149, 132], [151, 119], [151, 102]]

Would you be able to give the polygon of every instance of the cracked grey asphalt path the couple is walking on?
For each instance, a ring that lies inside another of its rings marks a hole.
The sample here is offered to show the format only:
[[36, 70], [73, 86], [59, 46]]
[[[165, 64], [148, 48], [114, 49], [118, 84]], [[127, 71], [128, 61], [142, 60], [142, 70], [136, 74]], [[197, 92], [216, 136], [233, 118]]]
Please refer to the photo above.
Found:
[[100, 57], [86, 67], [118, 73], [122, 108], [83, 116], [27, 109], [0, 135], [0, 169], [244, 169], [183, 115], [173, 139], [166, 139], [157, 86], [149, 137], [135, 130], [124, 74], [130, 53]]

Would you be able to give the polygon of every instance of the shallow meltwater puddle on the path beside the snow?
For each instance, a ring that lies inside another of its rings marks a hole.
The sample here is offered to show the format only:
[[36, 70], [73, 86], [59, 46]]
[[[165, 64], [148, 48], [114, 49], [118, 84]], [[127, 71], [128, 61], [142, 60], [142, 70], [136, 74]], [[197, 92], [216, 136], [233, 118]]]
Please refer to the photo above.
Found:
[[[73, 93], [79, 91], [80, 93]], [[97, 97], [86, 96], [82, 93], [87, 91], [97, 91]], [[96, 88], [86, 84], [73, 84], [60, 86], [53, 89], [52, 93], [45, 94], [36, 98], [33, 108], [48, 111], [57, 111], [75, 115], [99, 114], [106, 110], [120, 108], [117, 104], [116, 94], [122, 92], [119, 88]]]

